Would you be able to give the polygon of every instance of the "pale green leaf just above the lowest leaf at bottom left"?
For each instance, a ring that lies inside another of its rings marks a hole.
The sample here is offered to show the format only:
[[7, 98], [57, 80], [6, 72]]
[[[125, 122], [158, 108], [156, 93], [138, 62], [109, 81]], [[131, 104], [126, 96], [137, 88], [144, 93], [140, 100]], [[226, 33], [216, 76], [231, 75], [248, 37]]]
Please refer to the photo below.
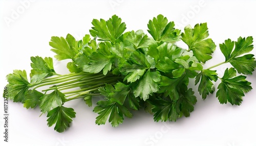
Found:
[[42, 113], [48, 112], [65, 103], [65, 94], [61, 93], [57, 88], [50, 94], [45, 94], [40, 99], [39, 107]]

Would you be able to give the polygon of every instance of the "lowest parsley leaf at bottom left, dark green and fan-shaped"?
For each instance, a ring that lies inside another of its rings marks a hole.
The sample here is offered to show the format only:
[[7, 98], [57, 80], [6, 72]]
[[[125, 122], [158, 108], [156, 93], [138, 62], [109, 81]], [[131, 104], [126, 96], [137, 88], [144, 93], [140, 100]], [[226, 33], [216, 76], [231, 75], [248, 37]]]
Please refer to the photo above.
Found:
[[49, 127], [55, 124], [54, 130], [57, 132], [64, 132], [68, 127], [70, 127], [72, 118], [76, 117], [76, 112], [73, 108], [57, 106], [48, 112], [47, 117], [49, 117], [47, 119], [47, 125]]

